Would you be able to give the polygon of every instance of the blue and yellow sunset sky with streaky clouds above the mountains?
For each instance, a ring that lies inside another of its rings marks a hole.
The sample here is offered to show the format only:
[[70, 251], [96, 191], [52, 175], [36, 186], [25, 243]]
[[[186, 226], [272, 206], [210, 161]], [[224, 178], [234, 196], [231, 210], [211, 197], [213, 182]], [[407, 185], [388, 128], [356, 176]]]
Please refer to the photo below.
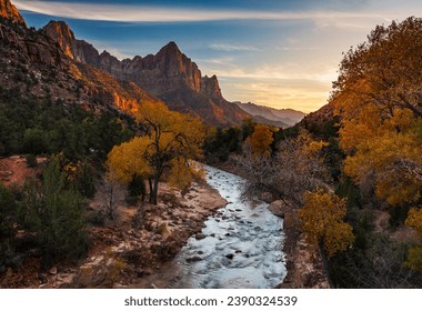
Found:
[[328, 101], [342, 52], [376, 24], [422, 17], [420, 0], [12, 0], [28, 26], [64, 20], [119, 59], [170, 41], [229, 101], [311, 112]]

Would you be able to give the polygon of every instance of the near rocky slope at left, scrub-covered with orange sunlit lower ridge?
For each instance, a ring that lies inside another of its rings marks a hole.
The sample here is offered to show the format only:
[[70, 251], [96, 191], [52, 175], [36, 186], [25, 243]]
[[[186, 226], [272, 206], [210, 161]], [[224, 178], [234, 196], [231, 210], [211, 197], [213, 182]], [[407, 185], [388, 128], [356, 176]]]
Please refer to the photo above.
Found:
[[[139, 86], [69, 57], [43, 30], [28, 28], [9, 0], [0, 0], [8, 16], [0, 19], [0, 102], [10, 94], [49, 99], [90, 110], [137, 111], [144, 101], [158, 101]], [[71, 36], [70, 32], [62, 33]]]

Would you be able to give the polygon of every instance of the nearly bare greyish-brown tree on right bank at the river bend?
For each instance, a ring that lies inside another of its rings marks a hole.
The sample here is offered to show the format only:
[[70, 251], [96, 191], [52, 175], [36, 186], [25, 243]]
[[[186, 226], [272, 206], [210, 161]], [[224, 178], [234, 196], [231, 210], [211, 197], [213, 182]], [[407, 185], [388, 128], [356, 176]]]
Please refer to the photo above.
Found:
[[326, 142], [314, 140], [303, 129], [297, 138], [280, 141], [272, 157], [255, 153], [245, 143], [239, 164], [248, 174], [248, 191], [264, 189], [302, 204], [305, 191], [315, 191], [328, 181], [321, 153], [326, 146]]

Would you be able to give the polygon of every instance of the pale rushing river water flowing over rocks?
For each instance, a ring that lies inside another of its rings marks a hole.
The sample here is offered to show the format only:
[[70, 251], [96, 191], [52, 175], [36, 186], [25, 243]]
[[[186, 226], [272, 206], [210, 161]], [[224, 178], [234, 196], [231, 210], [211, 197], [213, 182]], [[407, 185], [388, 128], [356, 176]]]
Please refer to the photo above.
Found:
[[189, 239], [174, 259], [174, 288], [272, 288], [285, 277], [282, 220], [262, 201], [242, 200], [244, 180], [207, 167], [208, 183], [230, 203], [207, 220], [204, 239]]

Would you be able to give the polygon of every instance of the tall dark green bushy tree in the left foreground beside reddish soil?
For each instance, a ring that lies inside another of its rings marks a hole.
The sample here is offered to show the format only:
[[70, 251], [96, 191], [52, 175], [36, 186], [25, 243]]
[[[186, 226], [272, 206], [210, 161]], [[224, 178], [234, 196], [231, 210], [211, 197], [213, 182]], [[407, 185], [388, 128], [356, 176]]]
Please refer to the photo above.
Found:
[[26, 183], [26, 220], [42, 248], [44, 268], [57, 258], [77, 259], [87, 248], [83, 221], [84, 201], [66, 188], [66, 174], [53, 159], [37, 180]]

